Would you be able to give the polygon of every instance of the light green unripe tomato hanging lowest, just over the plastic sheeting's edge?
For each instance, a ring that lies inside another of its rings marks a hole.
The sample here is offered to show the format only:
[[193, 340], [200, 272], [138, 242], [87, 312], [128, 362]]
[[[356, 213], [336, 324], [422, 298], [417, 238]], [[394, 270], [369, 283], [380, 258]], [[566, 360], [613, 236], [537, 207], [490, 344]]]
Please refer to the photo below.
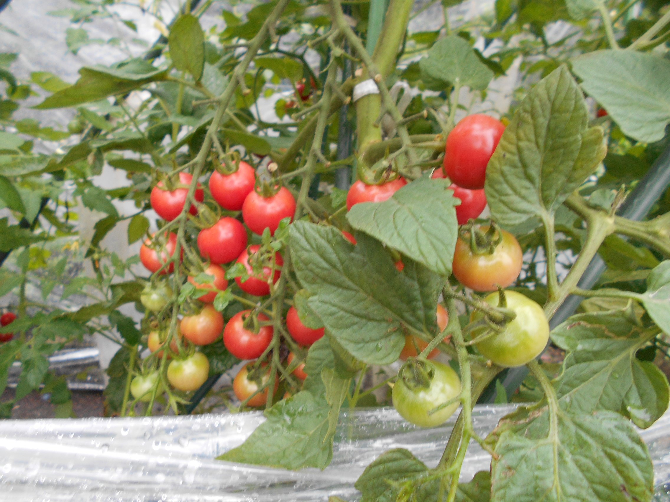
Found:
[[431, 415], [430, 410], [460, 394], [456, 371], [438, 361], [409, 359], [398, 372], [391, 398], [401, 416], [421, 427], [444, 424], [454, 414], [458, 401]]

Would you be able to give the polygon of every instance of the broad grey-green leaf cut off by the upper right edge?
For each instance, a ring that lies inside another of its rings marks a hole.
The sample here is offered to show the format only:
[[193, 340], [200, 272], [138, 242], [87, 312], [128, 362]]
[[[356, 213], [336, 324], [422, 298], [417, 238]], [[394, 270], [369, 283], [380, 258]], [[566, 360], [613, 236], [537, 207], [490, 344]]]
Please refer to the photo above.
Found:
[[627, 136], [651, 143], [670, 122], [670, 61], [637, 51], [602, 50], [572, 61], [582, 88]]

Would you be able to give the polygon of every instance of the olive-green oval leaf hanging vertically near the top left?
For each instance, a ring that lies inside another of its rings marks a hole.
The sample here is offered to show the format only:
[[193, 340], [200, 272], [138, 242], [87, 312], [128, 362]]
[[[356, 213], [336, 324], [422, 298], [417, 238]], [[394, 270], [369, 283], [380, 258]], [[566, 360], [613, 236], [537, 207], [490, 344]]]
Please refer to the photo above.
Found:
[[205, 37], [198, 18], [192, 14], [181, 15], [170, 28], [167, 46], [174, 67], [200, 80], [205, 65]]

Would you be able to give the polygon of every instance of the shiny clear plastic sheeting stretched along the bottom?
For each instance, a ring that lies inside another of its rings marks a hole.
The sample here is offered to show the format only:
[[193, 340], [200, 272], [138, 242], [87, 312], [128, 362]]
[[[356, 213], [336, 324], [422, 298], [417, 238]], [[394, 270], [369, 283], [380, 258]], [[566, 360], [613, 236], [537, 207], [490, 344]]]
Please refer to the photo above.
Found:
[[[514, 406], [476, 406], [485, 435]], [[0, 501], [279, 502], [358, 499], [354, 482], [389, 448], [438, 463], [454, 419], [439, 428], [407, 424], [393, 408], [344, 412], [332, 464], [293, 472], [214, 461], [261, 423], [261, 412], [153, 418], [0, 422]], [[655, 465], [657, 501], [670, 501], [670, 413], [641, 431]], [[462, 480], [487, 470], [471, 444]]]

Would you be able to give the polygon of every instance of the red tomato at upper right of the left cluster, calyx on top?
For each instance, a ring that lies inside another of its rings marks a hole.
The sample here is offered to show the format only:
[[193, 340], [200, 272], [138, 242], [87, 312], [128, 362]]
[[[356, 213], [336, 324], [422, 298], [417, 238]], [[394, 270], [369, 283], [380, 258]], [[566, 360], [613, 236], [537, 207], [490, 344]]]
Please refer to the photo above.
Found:
[[259, 236], [266, 228], [269, 228], [270, 234], [274, 235], [279, 222], [284, 218], [293, 218], [293, 214], [295, 214], [295, 197], [286, 187], [281, 187], [271, 197], [263, 197], [252, 191], [242, 206], [242, 218], [251, 232]]

